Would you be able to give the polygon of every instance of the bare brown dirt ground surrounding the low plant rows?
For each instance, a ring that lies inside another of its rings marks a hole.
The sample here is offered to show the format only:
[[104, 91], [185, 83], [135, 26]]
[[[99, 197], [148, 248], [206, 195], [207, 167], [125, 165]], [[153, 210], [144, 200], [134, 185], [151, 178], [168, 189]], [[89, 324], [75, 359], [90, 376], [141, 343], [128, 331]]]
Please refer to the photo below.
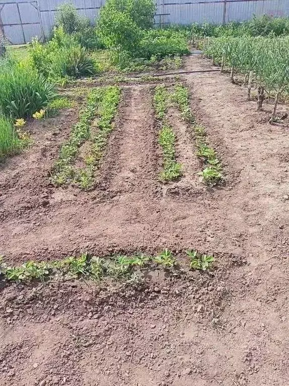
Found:
[[[210, 64], [191, 56], [185, 68]], [[82, 250], [192, 247], [216, 254], [220, 268], [160, 273], [141, 288], [4, 287], [0, 384], [288, 384], [288, 122], [269, 125], [271, 106], [256, 112], [226, 75], [182, 77], [223, 161], [224, 186], [205, 188], [193, 176], [185, 185], [158, 182], [151, 86], [126, 85], [94, 191], [49, 182], [73, 110], [32, 127], [35, 144], [1, 166], [0, 255], [16, 264]], [[183, 161], [197, 166], [192, 143], [179, 145]]]

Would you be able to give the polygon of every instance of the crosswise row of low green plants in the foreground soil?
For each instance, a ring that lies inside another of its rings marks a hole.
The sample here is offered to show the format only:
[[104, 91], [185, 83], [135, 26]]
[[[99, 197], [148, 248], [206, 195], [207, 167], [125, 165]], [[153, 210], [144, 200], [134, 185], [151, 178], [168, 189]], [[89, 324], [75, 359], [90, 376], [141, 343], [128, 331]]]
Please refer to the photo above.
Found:
[[[194, 250], [186, 251], [186, 255], [189, 257], [190, 269], [205, 271], [212, 268], [214, 262], [212, 255], [201, 254]], [[158, 267], [180, 270], [176, 258], [168, 249], [155, 256], [137, 254], [101, 258], [84, 253], [80, 257], [67, 257], [51, 262], [28, 261], [14, 267], [0, 260], [0, 279], [8, 282], [44, 282], [56, 277], [65, 277], [96, 281], [108, 278], [134, 281], [139, 280], [144, 271]]]

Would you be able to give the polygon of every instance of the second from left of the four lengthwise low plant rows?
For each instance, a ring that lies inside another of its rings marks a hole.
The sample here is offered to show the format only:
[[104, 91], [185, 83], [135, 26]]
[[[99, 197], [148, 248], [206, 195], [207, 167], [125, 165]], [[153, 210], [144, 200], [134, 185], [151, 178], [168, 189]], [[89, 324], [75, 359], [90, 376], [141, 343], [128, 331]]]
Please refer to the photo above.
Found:
[[99, 167], [109, 134], [114, 128], [112, 121], [117, 112], [121, 90], [117, 86], [107, 86], [99, 88], [97, 93], [97, 134], [90, 135], [91, 151], [85, 159], [86, 168], [81, 169], [76, 177], [79, 186], [86, 190], [93, 188], [94, 172]]

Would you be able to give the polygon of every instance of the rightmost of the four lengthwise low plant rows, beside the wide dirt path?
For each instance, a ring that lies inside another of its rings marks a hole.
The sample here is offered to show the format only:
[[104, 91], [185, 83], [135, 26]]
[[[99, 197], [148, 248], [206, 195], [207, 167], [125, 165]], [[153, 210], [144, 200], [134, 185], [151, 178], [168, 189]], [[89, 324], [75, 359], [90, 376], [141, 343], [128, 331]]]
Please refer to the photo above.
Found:
[[197, 147], [197, 156], [202, 159], [204, 164], [203, 170], [198, 174], [205, 184], [213, 186], [223, 179], [222, 164], [215, 150], [207, 144], [204, 128], [197, 125], [191, 113], [189, 91], [183, 85], [176, 85], [172, 97], [180, 110], [182, 119], [192, 126]]

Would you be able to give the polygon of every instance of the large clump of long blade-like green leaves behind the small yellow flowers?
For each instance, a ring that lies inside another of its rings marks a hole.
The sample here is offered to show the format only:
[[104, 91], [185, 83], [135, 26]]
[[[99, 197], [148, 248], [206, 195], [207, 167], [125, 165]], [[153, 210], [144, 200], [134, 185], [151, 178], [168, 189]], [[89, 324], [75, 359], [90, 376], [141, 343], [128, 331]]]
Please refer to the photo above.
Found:
[[11, 118], [32, 116], [55, 96], [53, 86], [27, 65], [5, 61], [0, 73], [0, 110]]

